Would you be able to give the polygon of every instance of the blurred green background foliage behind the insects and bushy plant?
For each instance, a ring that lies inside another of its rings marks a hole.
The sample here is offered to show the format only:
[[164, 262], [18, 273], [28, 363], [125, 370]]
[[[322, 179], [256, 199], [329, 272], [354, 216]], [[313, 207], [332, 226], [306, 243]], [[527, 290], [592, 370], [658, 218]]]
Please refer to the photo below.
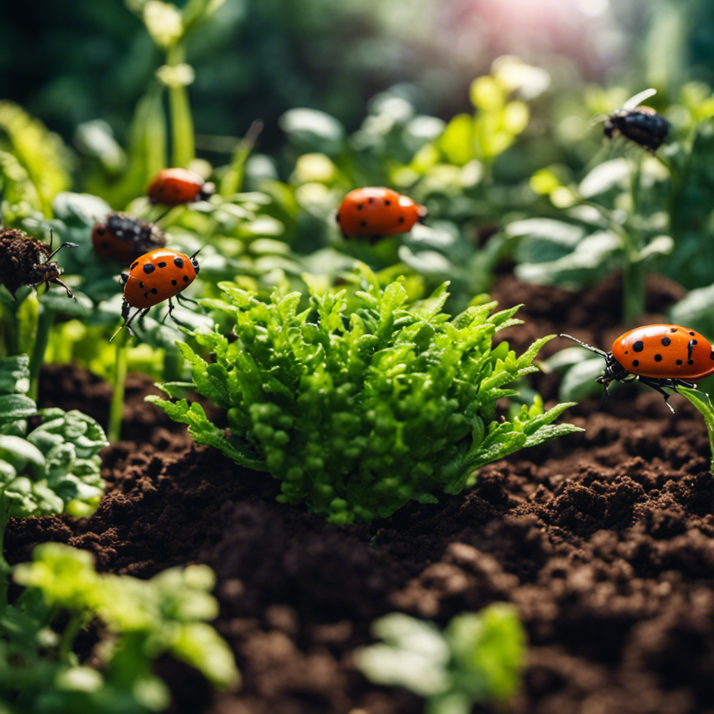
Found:
[[[96, 260], [91, 228], [111, 210], [159, 218], [144, 191], [169, 165], [218, 186], [159, 219], [170, 247], [203, 246], [201, 296], [226, 279], [262, 296], [350, 285], [355, 259], [383, 283], [405, 275], [414, 300], [450, 280], [451, 312], [486, 300], [504, 267], [570, 288], [621, 270], [626, 319], [648, 271], [709, 296], [713, 14], [705, 0], [8, 6], [3, 223], [79, 244], [61, 261], [78, 302], [36, 308], [60, 317], [47, 354], [109, 370], [97, 336], [126, 266]], [[647, 86], [672, 125], [656, 155], [598, 123]], [[424, 203], [426, 226], [344, 241], [334, 213], [363, 185]], [[673, 314], [714, 324], [709, 302]], [[147, 326], [137, 363], [166, 378], [178, 333]]]

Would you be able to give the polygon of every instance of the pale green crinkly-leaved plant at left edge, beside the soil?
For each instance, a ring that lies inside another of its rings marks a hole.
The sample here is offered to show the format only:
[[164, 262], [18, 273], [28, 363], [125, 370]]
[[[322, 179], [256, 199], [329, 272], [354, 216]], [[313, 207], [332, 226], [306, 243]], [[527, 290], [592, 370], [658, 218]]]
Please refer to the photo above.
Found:
[[[104, 493], [97, 454], [108, 445], [79, 411], [38, 409], [26, 396], [29, 357], [0, 358], [0, 613], [9, 566], [3, 534], [12, 516], [89, 516]], [[31, 421], [29, 421], [31, 420]]]

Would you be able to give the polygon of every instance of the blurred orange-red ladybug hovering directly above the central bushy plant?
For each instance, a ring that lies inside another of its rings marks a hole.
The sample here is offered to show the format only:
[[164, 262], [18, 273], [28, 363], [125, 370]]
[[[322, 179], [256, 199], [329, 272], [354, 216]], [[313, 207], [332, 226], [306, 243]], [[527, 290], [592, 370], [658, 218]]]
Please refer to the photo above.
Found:
[[391, 188], [356, 188], [342, 200], [337, 222], [344, 238], [369, 238], [375, 243], [383, 236], [411, 231], [426, 216], [426, 208]]

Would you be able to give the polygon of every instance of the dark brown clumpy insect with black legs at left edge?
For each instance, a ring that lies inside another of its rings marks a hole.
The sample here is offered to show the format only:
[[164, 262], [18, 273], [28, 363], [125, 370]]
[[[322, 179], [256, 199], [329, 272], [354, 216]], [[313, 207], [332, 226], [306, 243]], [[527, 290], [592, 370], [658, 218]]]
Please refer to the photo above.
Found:
[[59, 278], [63, 272], [62, 268], [52, 258], [62, 248], [76, 248], [77, 244], [62, 243], [53, 251], [52, 231], [49, 235], [47, 245], [15, 228], [0, 230], [0, 283], [8, 289], [13, 298], [17, 299], [15, 293], [21, 286], [36, 287], [41, 283], [45, 283], [47, 290], [49, 283], [61, 285], [67, 291], [67, 297], [74, 298], [72, 291]]

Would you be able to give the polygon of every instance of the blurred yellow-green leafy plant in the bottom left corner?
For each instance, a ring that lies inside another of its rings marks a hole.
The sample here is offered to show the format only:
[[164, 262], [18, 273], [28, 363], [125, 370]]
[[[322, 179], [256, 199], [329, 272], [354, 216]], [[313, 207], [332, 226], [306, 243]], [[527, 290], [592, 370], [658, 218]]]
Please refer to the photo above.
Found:
[[[226, 643], [205, 620], [218, 615], [205, 565], [171, 568], [151, 580], [99, 574], [89, 553], [44, 543], [16, 565], [19, 598], [0, 616], [0, 710], [10, 714], [144, 714], [169, 705], [151, 671], [164, 653], [227, 688], [239, 676]], [[79, 663], [80, 630], [101, 620], [97, 668]], [[58, 628], [56, 623], [61, 623]]]

